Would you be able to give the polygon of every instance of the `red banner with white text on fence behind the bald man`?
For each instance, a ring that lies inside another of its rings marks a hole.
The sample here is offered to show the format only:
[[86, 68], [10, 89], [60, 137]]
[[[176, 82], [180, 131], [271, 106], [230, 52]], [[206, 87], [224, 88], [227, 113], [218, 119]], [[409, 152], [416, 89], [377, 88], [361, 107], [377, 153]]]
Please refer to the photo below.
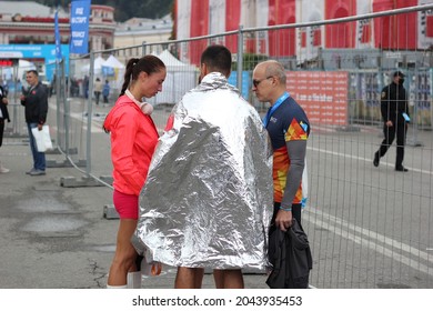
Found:
[[344, 71], [289, 71], [286, 86], [312, 124], [348, 126], [348, 77]]

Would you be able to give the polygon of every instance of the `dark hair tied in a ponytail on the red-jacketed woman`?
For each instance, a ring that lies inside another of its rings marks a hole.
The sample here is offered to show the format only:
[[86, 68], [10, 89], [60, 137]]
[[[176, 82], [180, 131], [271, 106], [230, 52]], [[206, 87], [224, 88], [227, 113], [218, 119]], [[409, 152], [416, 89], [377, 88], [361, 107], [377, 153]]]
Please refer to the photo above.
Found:
[[135, 81], [140, 72], [152, 74], [153, 72], [159, 72], [161, 69], [165, 69], [165, 64], [155, 56], [144, 56], [141, 59], [130, 59], [127, 64], [122, 91], [119, 97], [124, 94], [131, 83], [131, 80]]

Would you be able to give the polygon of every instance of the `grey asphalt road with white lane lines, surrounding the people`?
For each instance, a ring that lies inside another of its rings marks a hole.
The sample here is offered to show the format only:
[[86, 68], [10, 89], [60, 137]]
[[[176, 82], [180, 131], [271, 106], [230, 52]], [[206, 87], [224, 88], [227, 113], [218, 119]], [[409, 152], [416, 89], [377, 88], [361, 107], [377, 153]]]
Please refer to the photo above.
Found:
[[[75, 160], [87, 154], [84, 108], [82, 100], [72, 100]], [[93, 108], [90, 171], [97, 178], [111, 174], [109, 137], [101, 129], [109, 109]], [[56, 120], [52, 106], [50, 113]], [[168, 113], [154, 111], [160, 129]], [[313, 129], [308, 149], [310, 204], [303, 212], [313, 287], [433, 288], [433, 136], [410, 129], [409, 141], [423, 146], [406, 147], [407, 173], [393, 170], [394, 148], [379, 168], [372, 165], [381, 139], [375, 127]], [[62, 154], [47, 158], [66, 160]], [[104, 288], [118, 227], [118, 220], [103, 217], [104, 205], [111, 204], [110, 187], [61, 187], [66, 178], [83, 180], [82, 167], [24, 174], [31, 153], [23, 138], [6, 138], [0, 159], [11, 170], [0, 174], [0, 288]], [[142, 287], [172, 288], [174, 272], [164, 267], [162, 275], [144, 278]], [[262, 274], [245, 275], [246, 288], [266, 289], [264, 281]], [[204, 288], [213, 288], [210, 274]]]

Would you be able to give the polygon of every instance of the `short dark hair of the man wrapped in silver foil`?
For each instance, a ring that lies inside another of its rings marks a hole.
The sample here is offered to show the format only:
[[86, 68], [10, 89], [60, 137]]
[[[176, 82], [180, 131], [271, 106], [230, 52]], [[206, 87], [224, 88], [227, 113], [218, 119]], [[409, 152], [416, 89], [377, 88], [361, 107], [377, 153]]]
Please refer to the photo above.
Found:
[[205, 63], [211, 71], [229, 77], [232, 69], [232, 53], [224, 46], [210, 46], [201, 54], [200, 63]]

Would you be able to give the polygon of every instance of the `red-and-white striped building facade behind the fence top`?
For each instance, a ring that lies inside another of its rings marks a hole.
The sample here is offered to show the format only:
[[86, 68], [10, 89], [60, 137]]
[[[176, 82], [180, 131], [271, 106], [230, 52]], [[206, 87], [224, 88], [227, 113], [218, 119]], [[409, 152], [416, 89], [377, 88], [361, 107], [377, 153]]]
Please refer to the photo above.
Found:
[[[433, 0], [177, 0], [177, 39], [245, 28], [309, 23], [433, 3]], [[284, 42], [284, 44], [279, 44]], [[235, 38], [224, 43], [238, 50]], [[433, 12], [269, 32], [243, 49], [270, 57], [314, 58], [324, 49], [417, 50], [433, 47]], [[198, 50], [201, 50], [200, 48]], [[190, 56], [197, 61], [197, 56]], [[303, 61], [303, 59], [299, 59]]]

